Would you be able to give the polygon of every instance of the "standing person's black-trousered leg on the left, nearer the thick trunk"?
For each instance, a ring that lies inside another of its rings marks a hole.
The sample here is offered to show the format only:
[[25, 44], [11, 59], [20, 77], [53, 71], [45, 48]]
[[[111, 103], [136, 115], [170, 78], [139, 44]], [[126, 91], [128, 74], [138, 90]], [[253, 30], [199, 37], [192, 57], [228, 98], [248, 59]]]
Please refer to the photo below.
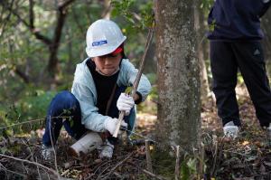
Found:
[[235, 126], [240, 126], [235, 92], [238, 66], [231, 43], [210, 42], [210, 67], [212, 90], [223, 126], [230, 121], [233, 121]]

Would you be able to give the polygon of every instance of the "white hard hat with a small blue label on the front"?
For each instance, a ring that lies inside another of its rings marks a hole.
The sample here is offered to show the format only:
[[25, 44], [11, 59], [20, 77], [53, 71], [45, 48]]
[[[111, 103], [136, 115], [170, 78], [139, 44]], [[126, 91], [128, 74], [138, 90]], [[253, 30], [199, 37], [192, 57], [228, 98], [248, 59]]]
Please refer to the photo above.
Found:
[[90, 58], [114, 52], [126, 41], [116, 23], [100, 19], [89, 26], [86, 52]]

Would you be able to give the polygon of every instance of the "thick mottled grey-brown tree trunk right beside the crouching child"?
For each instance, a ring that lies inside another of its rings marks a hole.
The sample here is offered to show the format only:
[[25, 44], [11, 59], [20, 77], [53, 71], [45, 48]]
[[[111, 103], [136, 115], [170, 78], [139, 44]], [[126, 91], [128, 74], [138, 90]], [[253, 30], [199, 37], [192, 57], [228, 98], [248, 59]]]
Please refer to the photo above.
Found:
[[[155, 1], [160, 151], [199, 147], [200, 69], [196, 58], [194, 1]], [[183, 152], [182, 152], [183, 153]]]

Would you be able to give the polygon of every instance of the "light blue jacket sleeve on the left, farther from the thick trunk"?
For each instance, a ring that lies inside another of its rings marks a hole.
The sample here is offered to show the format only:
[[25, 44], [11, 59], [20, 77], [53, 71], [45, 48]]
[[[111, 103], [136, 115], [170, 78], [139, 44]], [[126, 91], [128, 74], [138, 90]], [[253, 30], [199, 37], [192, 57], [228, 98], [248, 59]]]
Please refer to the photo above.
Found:
[[71, 92], [79, 100], [81, 123], [85, 128], [96, 132], [106, 131], [104, 122], [108, 117], [98, 113], [98, 108], [94, 104], [94, 95], [89, 87], [75, 81], [72, 84]]

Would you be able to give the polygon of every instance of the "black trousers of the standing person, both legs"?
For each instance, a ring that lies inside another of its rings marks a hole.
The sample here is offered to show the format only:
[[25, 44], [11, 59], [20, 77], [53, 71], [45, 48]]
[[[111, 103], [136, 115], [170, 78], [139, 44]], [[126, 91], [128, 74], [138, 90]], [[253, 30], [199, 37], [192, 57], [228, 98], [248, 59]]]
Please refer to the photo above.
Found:
[[210, 42], [212, 89], [223, 125], [240, 126], [235, 87], [238, 69], [246, 83], [262, 127], [271, 123], [271, 91], [266, 76], [264, 53], [259, 42]]

